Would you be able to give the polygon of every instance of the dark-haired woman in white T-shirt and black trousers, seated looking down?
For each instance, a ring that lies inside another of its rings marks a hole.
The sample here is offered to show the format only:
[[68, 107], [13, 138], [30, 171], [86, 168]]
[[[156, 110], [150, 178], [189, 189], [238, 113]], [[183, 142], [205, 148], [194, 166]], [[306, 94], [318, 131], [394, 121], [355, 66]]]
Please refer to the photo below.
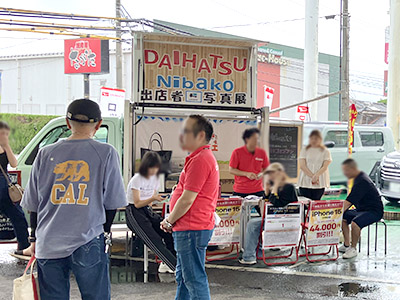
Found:
[[127, 198], [130, 204], [127, 209], [136, 221], [136, 224], [132, 224], [133, 227], [138, 227], [135, 228], [135, 232], [137, 234], [140, 232], [141, 236], [145, 236], [143, 242], [149, 248], [159, 250], [156, 254], [163, 261], [158, 269], [159, 272], [173, 273], [176, 266], [176, 254], [172, 234], [161, 230], [160, 223], [163, 219], [151, 208], [154, 201], [163, 200], [157, 192], [160, 166], [161, 158], [156, 152], [149, 151], [143, 156], [139, 173], [135, 174], [128, 184]]

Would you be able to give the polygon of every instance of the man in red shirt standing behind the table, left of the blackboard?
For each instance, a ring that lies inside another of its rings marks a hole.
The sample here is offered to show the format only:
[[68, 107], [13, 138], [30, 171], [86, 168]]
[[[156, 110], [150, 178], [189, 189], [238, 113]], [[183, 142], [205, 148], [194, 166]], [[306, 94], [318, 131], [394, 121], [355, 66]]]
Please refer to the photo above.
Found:
[[229, 172], [235, 175], [235, 196], [265, 196], [263, 178], [269, 159], [265, 150], [257, 147], [259, 140], [260, 131], [257, 128], [246, 129], [243, 133], [245, 145], [232, 152]]

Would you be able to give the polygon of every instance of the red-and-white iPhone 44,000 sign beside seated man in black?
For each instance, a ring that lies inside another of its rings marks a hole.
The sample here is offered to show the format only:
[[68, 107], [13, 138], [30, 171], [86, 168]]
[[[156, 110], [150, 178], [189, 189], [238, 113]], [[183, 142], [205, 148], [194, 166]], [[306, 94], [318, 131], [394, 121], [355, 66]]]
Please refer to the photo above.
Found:
[[308, 246], [338, 244], [343, 217], [342, 200], [313, 201], [309, 212]]

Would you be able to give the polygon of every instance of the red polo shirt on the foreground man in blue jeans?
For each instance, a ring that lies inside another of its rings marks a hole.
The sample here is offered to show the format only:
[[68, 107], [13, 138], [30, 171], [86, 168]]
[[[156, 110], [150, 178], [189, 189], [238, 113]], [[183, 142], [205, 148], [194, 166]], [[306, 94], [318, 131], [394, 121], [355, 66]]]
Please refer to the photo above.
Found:
[[174, 231], [211, 230], [215, 226], [219, 171], [210, 146], [203, 146], [186, 157], [179, 183], [171, 197], [171, 211], [184, 190], [198, 193], [188, 212], [176, 221]]

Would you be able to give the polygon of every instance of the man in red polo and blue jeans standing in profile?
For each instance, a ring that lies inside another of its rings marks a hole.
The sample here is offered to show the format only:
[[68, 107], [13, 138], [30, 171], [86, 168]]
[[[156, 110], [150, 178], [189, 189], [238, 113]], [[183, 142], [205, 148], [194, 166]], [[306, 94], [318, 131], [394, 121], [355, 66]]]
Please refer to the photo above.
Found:
[[203, 116], [192, 115], [184, 122], [180, 144], [190, 155], [171, 196], [171, 214], [161, 222], [163, 230], [173, 231], [179, 300], [210, 299], [205, 257], [219, 189], [218, 164], [208, 145], [212, 134]]

